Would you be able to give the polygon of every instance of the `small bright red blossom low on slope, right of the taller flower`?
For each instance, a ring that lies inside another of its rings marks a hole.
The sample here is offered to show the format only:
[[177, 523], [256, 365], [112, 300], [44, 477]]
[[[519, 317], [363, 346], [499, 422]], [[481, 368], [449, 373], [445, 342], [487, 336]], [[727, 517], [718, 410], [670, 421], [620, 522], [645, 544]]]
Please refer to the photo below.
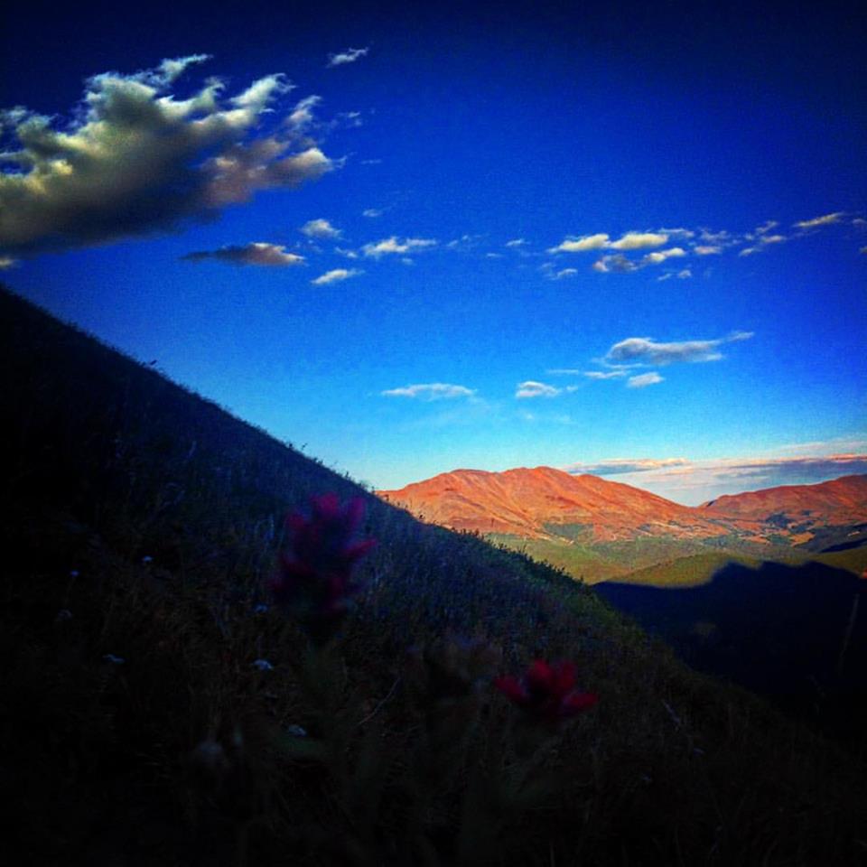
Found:
[[561, 722], [599, 701], [598, 695], [574, 688], [575, 667], [571, 662], [550, 665], [536, 659], [520, 680], [498, 677], [494, 685], [511, 702], [542, 722]]

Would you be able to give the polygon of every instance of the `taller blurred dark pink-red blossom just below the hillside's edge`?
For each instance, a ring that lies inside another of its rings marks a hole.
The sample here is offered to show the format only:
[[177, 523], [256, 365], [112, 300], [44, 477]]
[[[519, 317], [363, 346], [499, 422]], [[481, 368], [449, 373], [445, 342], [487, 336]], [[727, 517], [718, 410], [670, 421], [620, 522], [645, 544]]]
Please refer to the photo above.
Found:
[[292, 542], [280, 555], [270, 589], [275, 603], [317, 642], [331, 639], [361, 589], [352, 570], [376, 545], [374, 539], [353, 540], [362, 517], [364, 500], [352, 499], [340, 508], [335, 494], [324, 494], [312, 498], [310, 517], [286, 518]]

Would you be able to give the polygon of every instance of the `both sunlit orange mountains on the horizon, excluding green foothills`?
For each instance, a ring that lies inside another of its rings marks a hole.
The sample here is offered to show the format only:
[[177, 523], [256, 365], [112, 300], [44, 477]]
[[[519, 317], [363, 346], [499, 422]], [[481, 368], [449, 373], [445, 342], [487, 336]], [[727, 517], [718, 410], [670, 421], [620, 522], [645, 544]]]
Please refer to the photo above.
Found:
[[456, 470], [378, 493], [434, 524], [525, 538], [562, 536], [562, 527], [574, 527], [593, 542], [647, 536], [706, 539], [733, 533], [785, 535], [799, 544], [818, 528], [867, 522], [867, 476], [748, 491], [698, 507], [551, 467]]

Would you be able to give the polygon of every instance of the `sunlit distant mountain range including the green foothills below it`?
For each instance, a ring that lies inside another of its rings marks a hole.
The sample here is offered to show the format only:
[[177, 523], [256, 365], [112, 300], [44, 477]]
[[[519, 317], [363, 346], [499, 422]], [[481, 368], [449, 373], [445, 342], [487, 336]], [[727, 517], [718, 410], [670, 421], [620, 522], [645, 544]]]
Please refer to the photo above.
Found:
[[[491, 536], [591, 581], [687, 556], [713, 554], [709, 569], [725, 554], [797, 562], [821, 552], [867, 552], [867, 475], [749, 491], [698, 507], [551, 467], [456, 470], [378, 494], [425, 521]], [[849, 559], [854, 572], [867, 557]]]

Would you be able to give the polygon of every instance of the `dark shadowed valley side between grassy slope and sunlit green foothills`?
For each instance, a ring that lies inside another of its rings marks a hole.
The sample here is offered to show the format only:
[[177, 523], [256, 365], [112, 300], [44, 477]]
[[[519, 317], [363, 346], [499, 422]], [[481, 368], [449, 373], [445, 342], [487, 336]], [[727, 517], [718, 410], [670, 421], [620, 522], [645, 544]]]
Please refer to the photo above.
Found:
[[606, 582], [603, 598], [685, 662], [836, 736], [867, 722], [867, 582], [810, 562], [728, 564], [699, 587]]

